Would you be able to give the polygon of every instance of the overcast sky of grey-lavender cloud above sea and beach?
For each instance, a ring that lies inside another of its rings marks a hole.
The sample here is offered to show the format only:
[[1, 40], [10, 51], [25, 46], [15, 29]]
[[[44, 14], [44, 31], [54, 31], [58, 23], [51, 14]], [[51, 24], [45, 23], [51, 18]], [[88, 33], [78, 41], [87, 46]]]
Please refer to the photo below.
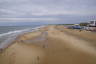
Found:
[[0, 0], [0, 22], [79, 23], [94, 19], [96, 0]]

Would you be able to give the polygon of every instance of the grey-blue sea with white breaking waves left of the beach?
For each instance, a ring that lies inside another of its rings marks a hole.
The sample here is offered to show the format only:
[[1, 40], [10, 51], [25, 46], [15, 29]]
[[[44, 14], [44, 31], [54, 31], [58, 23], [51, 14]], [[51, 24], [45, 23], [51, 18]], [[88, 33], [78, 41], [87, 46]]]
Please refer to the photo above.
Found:
[[0, 49], [6, 48], [18, 35], [32, 32], [40, 27], [43, 26], [0, 26]]

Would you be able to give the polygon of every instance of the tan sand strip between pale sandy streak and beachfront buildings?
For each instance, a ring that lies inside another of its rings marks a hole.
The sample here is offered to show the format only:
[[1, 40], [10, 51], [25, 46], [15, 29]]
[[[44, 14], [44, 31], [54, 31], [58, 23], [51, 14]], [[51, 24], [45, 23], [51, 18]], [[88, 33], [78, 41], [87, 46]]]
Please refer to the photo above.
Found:
[[67, 34], [86, 40], [90, 43], [90, 45], [93, 45], [96, 47], [96, 32], [90, 32], [90, 31], [85, 31], [85, 30], [80, 31], [80, 30], [75, 30], [75, 29], [74, 30], [64, 29], [64, 26], [57, 26], [56, 28]]

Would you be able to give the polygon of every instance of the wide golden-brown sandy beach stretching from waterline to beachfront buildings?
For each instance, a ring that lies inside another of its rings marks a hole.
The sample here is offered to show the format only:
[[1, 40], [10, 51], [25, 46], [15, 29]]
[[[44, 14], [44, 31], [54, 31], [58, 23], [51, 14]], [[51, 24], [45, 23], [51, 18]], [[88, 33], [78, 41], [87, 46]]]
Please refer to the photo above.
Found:
[[0, 64], [96, 64], [96, 33], [51, 25], [19, 36]]

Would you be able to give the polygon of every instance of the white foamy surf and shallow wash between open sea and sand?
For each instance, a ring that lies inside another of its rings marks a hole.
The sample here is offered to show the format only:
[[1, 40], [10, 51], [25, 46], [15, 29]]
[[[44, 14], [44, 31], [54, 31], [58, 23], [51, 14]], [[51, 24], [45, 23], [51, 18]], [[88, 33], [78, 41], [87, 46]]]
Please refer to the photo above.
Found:
[[3, 36], [7, 36], [7, 38], [3, 42], [1, 42], [0, 49], [4, 49], [4, 48], [8, 47], [8, 45], [10, 45], [12, 43], [12, 41], [14, 41], [17, 38], [18, 35], [21, 35], [21, 34], [24, 34], [27, 32], [33, 32], [42, 27], [44, 27], [44, 26], [23, 29], [23, 30], [10, 31], [7, 33], [0, 34], [0, 38], [2, 38]]

